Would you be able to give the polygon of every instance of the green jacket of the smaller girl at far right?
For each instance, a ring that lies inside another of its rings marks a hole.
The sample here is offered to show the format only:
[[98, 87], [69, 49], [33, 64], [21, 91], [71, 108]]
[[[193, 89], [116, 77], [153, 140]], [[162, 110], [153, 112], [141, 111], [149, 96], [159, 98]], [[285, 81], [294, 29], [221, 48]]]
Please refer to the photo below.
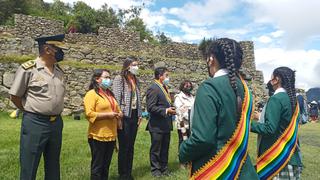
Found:
[[[287, 93], [279, 92], [270, 97], [264, 115], [265, 122], [251, 122], [251, 131], [262, 135], [258, 148], [259, 156], [279, 139], [282, 132], [288, 127], [292, 114], [290, 98]], [[302, 166], [298, 151], [292, 155], [289, 164]]]

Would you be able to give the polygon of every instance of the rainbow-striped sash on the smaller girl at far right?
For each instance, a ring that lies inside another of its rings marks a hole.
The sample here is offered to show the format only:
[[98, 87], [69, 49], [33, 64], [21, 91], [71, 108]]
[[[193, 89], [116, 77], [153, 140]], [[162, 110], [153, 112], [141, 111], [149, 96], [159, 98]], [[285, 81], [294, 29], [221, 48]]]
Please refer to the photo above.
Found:
[[272, 179], [287, 165], [297, 145], [298, 119], [297, 104], [287, 129], [270, 149], [257, 158], [257, 172], [260, 179]]

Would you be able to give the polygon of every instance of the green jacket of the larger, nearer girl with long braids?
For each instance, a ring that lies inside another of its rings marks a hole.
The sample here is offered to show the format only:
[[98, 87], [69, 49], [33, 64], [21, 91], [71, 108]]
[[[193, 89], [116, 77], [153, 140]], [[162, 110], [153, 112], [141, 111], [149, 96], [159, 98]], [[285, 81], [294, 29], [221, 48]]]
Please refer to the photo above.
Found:
[[[244, 96], [241, 81], [238, 90]], [[180, 145], [179, 159], [192, 162], [195, 172], [227, 143], [237, 126], [236, 96], [227, 75], [204, 81], [196, 95], [191, 135]], [[249, 155], [239, 179], [258, 179]]]

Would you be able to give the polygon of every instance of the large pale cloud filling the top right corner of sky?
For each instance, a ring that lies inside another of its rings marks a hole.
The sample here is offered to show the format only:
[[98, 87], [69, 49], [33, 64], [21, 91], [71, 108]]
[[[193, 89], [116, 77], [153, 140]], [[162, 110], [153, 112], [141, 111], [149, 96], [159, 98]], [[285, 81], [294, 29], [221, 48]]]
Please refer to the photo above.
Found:
[[255, 23], [270, 24], [285, 32], [287, 48], [302, 48], [309, 39], [320, 36], [318, 0], [245, 0]]

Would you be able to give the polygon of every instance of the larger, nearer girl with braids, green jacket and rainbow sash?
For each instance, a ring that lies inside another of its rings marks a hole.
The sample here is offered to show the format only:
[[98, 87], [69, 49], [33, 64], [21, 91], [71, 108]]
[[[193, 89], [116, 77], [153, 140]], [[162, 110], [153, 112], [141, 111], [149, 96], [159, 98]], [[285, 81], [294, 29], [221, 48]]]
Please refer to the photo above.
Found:
[[192, 163], [191, 179], [258, 179], [247, 153], [252, 96], [238, 74], [240, 44], [221, 38], [203, 49], [210, 78], [197, 91], [180, 162]]

